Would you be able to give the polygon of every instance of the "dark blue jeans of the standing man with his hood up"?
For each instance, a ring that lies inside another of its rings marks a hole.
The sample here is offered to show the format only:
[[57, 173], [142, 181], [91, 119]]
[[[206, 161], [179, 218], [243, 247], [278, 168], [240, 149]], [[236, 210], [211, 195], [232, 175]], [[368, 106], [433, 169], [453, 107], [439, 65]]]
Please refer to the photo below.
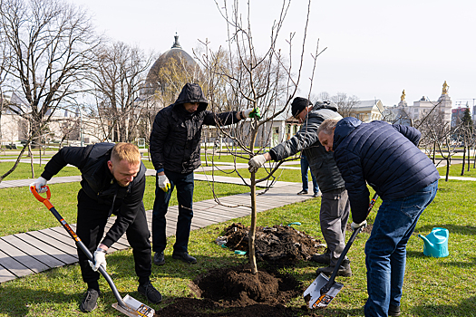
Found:
[[152, 212], [152, 250], [162, 252], [167, 246], [165, 215], [169, 208], [172, 191], [177, 188], [179, 218], [173, 250], [188, 252], [191, 218], [193, 217], [193, 172], [180, 174], [166, 170], [165, 175], [169, 178], [170, 190], [165, 193], [157, 186], [157, 183], [155, 187], [155, 201]]

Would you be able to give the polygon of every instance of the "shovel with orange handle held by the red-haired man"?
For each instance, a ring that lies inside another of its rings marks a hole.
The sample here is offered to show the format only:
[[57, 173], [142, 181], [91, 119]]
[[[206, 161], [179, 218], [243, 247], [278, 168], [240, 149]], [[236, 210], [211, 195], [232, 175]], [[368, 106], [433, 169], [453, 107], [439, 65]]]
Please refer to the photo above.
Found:
[[[78, 235], [73, 231], [71, 226], [68, 225], [68, 223], [63, 219], [63, 217], [54, 209], [52, 203], [50, 202], [51, 198], [51, 191], [50, 187], [47, 187], [47, 192], [46, 192], [46, 198], [41, 197], [40, 194], [36, 191], [36, 188], [34, 186], [30, 187], [31, 192], [33, 193], [34, 197], [38, 199], [40, 202], [44, 203], [44, 206], [46, 206], [53, 214], [53, 216], [58, 219], [58, 221], [61, 223], [64, 229], [68, 232], [71, 237], [73, 237], [74, 241], [76, 241], [76, 245], [83, 251], [83, 253], [92, 261], [94, 262], [94, 258], [91, 254], [91, 252], [88, 250], [86, 245], [83, 244], [83, 241], [79, 238]], [[129, 294], [127, 294], [124, 299], [121, 298], [121, 294], [117, 291], [116, 285], [112, 282], [111, 276], [107, 274], [106, 270], [102, 266], [99, 266], [99, 272], [104, 276], [106, 279], [107, 283], [109, 283], [109, 286], [111, 286], [112, 293], [114, 293], [114, 296], [116, 297], [117, 303], [113, 303], [112, 307], [114, 307], [116, 310], [119, 312], [122, 312], [123, 314], [131, 317], [136, 317], [136, 316], [141, 316], [141, 317], [153, 317], [155, 311], [135, 300]]]

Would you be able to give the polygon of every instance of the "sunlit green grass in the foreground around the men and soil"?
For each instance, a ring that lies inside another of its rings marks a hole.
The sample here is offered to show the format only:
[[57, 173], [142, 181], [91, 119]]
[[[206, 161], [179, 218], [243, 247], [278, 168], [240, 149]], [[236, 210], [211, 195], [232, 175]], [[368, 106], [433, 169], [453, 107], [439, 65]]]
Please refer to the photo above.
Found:
[[[296, 171], [298, 174], [298, 171]], [[61, 185], [65, 186], [65, 184]], [[150, 186], [148, 182], [148, 186]], [[2, 189], [5, 190], [5, 189]], [[52, 189], [53, 190], [53, 189]], [[58, 190], [59, 189], [55, 189]], [[65, 189], [72, 191], [75, 189]], [[148, 189], [149, 190], [149, 189]], [[235, 190], [235, 189], [230, 189]], [[420, 218], [413, 237], [407, 247], [406, 277], [403, 284], [402, 316], [475, 316], [476, 315], [476, 219], [474, 206], [476, 182], [450, 180], [440, 182], [438, 195]], [[1, 192], [1, 206], [4, 206], [5, 192]], [[31, 198], [22, 197], [23, 205], [31, 206]], [[73, 199], [72, 199], [73, 200]], [[376, 210], [378, 205], [374, 207]], [[36, 203], [40, 205], [39, 203]], [[147, 203], [150, 204], [150, 203]], [[56, 203], [63, 210], [62, 203]], [[323, 239], [319, 230], [318, 210], [320, 199], [310, 199], [267, 210], [258, 215], [258, 226], [273, 226], [281, 223], [299, 221], [299, 230], [317, 239]], [[43, 207], [44, 208], [44, 207]], [[17, 218], [24, 216], [25, 211], [3, 210], [3, 213], [15, 213]], [[373, 223], [375, 213], [369, 217]], [[24, 221], [22, 219], [22, 221]], [[72, 222], [72, 221], [71, 221]], [[171, 245], [174, 237], [169, 238], [165, 250], [166, 264], [152, 267], [152, 283], [164, 296], [163, 303], [152, 305], [160, 309], [176, 297], [193, 296], [189, 290], [189, 282], [198, 274], [210, 269], [240, 264], [247, 261], [243, 255], [234, 255], [227, 249], [214, 243], [223, 229], [232, 222], [249, 225], [249, 216], [233, 219], [219, 225], [208, 226], [193, 231], [189, 239], [189, 252], [198, 258], [195, 265], [183, 264], [171, 259]], [[2, 220], [3, 225], [11, 225]], [[48, 225], [49, 226], [49, 225]], [[427, 235], [432, 227], [445, 227], [450, 231], [450, 255], [444, 258], [431, 258], [423, 255], [423, 241], [418, 234]], [[348, 233], [347, 237], [350, 235]], [[349, 251], [354, 275], [350, 278], [338, 277], [337, 281], [345, 287], [328, 306], [326, 316], [363, 316], [363, 305], [366, 300], [366, 276], [364, 264], [364, 244], [368, 234], [358, 235]], [[316, 277], [317, 265], [300, 262], [286, 271], [296, 276], [304, 285], [310, 284]], [[137, 290], [137, 277], [134, 274], [131, 251], [116, 252], [108, 255], [108, 271], [121, 294], [130, 293], [134, 298], [144, 301]], [[115, 303], [112, 292], [103, 279], [100, 280], [102, 297], [99, 307], [89, 316], [118, 316], [112, 309]], [[0, 316], [78, 316], [81, 312], [78, 305], [85, 290], [81, 273], [77, 264], [66, 265], [49, 270], [42, 274], [33, 274], [24, 278], [0, 284]], [[301, 297], [288, 305], [301, 307]], [[303, 312], [303, 316], [309, 315]]]

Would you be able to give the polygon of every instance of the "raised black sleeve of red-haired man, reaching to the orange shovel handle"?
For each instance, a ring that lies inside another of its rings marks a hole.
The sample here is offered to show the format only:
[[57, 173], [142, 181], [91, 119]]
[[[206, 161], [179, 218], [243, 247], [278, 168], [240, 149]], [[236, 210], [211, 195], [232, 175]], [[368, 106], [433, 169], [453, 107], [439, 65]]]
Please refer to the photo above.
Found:
[[65, 147], [60, 149], [58, 153], [54, 154], [53, 158], [44, 166], [42, 178], [50, 180], [68, 164], [73, 165], [76, 168], [81, 168], [91, 149], [92, 145], [87, 146], [86, 148]]

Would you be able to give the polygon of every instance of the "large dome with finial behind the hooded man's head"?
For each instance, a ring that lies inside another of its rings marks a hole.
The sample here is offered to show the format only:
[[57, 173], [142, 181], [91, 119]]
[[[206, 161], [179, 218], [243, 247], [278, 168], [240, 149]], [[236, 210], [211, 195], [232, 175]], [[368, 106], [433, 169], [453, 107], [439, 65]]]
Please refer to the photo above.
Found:
[[199, 68], [199, 64], [193, 60], [189, 53], [182, 50], [179, 43], [179, 35], [175, 34], [175, 41], [169, 51], [160, 54], [157, 61], [155, 61], [151, 67], [151, 70], [147, 74], [145, 82], [145, 90], [142, 93], [153, 94], [160, 87], [160, 70], [170, 63], [171, 59], [185, 61], [189, 67]]

